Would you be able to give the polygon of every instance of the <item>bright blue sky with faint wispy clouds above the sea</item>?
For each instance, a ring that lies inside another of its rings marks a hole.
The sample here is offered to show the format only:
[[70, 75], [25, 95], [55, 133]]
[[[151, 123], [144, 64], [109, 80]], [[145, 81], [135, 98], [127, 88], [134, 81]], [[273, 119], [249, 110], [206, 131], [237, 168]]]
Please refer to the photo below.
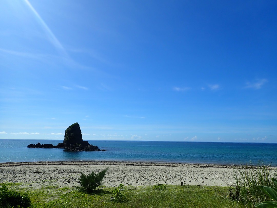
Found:
[[0, 2], [0, 139], [277, 142], [277, 1]]

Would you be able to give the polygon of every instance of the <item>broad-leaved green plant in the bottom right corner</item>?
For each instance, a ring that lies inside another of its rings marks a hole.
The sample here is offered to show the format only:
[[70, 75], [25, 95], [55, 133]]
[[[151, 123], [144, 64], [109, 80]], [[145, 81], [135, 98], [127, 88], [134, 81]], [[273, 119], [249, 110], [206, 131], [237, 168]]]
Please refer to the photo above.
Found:
[[[271, 180], [273, 181], [274, 185], [277, 187], [277, 180], [275, 178], [271, 178]], [[260, 202], [258, 204], [255, 204], [255, 207], [276, 208], [277, 207], [277, 189], [274, 187], [269, 187], [269, 186], [257, 186], [257, 187], [275, 201]]]

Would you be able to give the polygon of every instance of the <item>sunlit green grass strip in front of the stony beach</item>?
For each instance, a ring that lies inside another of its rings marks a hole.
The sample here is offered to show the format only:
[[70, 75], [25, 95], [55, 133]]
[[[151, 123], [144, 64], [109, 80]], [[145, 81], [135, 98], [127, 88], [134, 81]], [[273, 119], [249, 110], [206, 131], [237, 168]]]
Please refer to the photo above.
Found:
[[[97, 189], [94, 194], [78, 191], [75, 188], [57, 188], [56, 186], [42, 189], [22, 189], [29, 193], [32, 206], [38, 207], [248, 207], [238, 201], [225, 198], [229, 187], [209, 186], [173, 186], [168, 185], [164, 190], [153, 189], [153, 186], [126, 187], [123, 191], [127, 201], [119, 203], [111, 201], [114, 188]], [[21, 191], [22, 191], [21, 190]]]

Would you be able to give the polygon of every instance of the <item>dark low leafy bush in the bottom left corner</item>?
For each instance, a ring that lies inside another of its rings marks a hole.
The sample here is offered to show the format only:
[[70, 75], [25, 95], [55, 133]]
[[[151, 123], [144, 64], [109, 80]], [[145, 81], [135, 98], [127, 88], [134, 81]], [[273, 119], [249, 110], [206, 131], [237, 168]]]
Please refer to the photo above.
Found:
[[8, 189], [6, 184], [0, 187], [0, 207], [29, 207], [30, 197], [27, 193]]

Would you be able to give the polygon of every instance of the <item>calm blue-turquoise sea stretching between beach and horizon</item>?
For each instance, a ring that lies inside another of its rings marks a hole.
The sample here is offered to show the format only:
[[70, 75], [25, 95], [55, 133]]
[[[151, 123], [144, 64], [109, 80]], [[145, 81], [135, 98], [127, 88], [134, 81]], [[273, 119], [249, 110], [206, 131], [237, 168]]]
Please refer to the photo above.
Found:
[[36, 161], [143, 161], [192, 164], [271, 164], [277, 166], [277, 143], [88, 140], [107, 151], [67, 152], [27, 148], [63, 140], [0, 139], [0, 163]]

